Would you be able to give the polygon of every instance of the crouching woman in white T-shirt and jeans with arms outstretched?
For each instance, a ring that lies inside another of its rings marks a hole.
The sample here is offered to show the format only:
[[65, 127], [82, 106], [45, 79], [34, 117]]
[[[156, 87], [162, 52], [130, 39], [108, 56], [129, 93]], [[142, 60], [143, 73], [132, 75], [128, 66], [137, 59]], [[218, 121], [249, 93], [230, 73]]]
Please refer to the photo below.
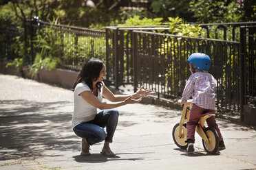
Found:
[[[74, 113], [72, 127], [82, 138], [81, 155], [88, 156], [90, 145], [105, 140], [101, 154], [115, 156], [109, 147], [118, 124], [118, 106], [136, 104], [148, 97], [152, 90], [143, 86], [133, 95], [114, 95], [103, 83], [107, 75], [102, 60], [92, 58], [85, 63], [74, 84]], [[103, 97], [110, 102], [103, 102]], [[136, 99], [138, 98], [138, 99]], [[97, 108], [103, 110], [97, 113]], [[106, 127], [106, 131], [104, 130]]]

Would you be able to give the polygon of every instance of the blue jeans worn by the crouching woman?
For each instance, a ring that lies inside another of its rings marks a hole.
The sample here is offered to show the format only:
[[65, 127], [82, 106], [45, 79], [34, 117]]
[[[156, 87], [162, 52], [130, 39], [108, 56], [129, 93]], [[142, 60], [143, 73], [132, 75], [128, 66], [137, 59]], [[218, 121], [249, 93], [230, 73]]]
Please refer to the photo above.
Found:
[[[105, 142], [112, 143], [118, 124], [118, 117], [119, 112], [116, 109], [103, 110], [96, 114], [94, 120], [80, 123], [73, 130], [77, 136], [86, 138], [89, 145], [94, 145], [104, 140]], [[104, 130], [105, 127], [107, 133]]]

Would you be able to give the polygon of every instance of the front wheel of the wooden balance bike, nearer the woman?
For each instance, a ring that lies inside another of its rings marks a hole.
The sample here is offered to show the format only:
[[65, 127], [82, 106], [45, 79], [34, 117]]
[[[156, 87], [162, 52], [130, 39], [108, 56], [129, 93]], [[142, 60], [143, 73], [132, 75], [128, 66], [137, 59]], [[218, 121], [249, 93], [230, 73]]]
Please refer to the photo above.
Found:
[[180, 123], [177, 123], [173, 127], [173, 141], [181, 149], [186, 149], [188, 144], [186, 141], [186, 125], [182, 126], [182, 136], [179, 136]]

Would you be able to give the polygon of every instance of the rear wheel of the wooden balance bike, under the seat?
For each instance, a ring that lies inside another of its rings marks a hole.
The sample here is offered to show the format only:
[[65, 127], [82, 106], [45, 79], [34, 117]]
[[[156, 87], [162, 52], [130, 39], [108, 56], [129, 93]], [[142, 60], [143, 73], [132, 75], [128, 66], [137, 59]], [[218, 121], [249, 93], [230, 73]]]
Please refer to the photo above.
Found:
[[208, 154], [216, 154], [217, 149], [219, 148], [219, 136], [217, 135], [216, 130], [213, 127], [206, 127], [204, 133], [208, 137], [208, 143], [202, 139], [204, 150]]

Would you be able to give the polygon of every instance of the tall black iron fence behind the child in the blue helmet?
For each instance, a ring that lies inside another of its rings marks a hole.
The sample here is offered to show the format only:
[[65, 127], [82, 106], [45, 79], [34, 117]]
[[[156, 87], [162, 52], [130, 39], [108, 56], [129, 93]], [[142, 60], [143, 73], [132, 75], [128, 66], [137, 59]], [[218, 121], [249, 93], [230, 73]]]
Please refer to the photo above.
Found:
[[[116, 88], [134, 83], [136, 90], [144, 83], [158, 97], [180, 97], [189, 77], [185, 59], [190, 53], [202, 51], [213, 59], [210, 71], [217, 79], [217, 108], [243, 121], [244, 104], [250, 101], [255, 106], [255, 28], [249, 29], [255, 25], [256, 22], [203, 24], [205, 38], [156, 34], [168, 32], [167, 25], [107, 27], [107, 62], [112, 69], [107, 80], [114, 82]], [[243, 26], [247, 36], [244, 45], [240, 45]], [[243, 50], [246, 52], [240, 56]]]

